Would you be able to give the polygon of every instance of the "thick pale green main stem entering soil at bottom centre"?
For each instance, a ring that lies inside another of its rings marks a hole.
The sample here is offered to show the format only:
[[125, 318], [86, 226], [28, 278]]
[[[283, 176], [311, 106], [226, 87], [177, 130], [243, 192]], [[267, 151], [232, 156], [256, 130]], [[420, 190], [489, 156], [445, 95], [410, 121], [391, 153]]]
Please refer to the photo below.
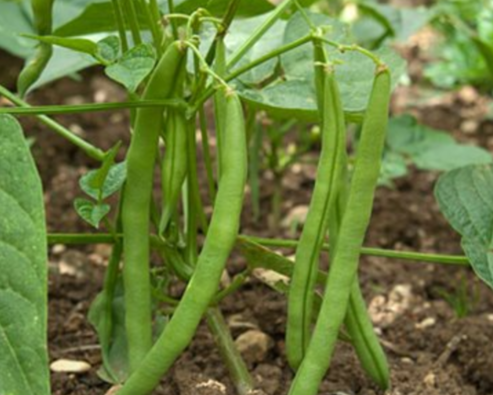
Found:
[[253, 380], [248, 373], [245, 361], [238, 352], [231, 337], [228, 324], [218, 307], [211, 307], [207, 313], [207, 324], [219, 348], [219, 353], [228, 368], [229, 375], [239, 395], [253, 392]]

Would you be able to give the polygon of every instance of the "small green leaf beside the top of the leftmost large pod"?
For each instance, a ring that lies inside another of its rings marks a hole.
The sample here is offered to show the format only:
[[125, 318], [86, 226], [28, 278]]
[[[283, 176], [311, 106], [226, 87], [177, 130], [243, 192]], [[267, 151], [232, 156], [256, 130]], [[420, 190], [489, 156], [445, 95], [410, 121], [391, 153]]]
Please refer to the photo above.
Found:
[[150, 44], [139, 44], [105, 69], [106, 75], [135, 92], [156, 63], [156, 53]]

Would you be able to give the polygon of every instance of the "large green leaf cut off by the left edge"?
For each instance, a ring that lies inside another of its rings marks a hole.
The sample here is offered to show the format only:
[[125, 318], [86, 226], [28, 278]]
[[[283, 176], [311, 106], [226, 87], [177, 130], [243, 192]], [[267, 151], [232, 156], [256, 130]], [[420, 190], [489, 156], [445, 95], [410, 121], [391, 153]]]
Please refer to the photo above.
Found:
[[0, 394], [49, 395], [41, 181], [15, 118], [0, 116]]

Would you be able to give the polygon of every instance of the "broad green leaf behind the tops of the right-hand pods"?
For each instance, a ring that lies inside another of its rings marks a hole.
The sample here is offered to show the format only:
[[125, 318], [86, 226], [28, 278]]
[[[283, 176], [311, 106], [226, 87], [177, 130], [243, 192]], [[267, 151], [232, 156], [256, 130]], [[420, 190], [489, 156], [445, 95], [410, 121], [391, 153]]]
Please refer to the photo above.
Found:
[[[347, 42], [344, 25], [325, 15], [310, 13], [317, 26], [331, 27], [326, 37], [330, 40]], [[285, 28], [284, 44], [308, 34], [306, 21], [296, 14]], [[336, 76], [339, 82], [344, 110], [350, 120], [361, 120], [373, 85], [375, 65], [366, 56], [347, 51], [335, 52], [327, 46], [330, 60], [337, 62]], [[376, 52], [392, 71], [395, 85], [404, 71], [404, 61], [391, 49]], [[340, 64], [339, 64], [340, 63]], [[316, 92], [314, 83], [314, 59], [312, 44], [305, 44], [281, 56], [282, 76], [267, 86], [258, 87], [236, 81], [237, 89], [244, 100], [252, 106], [270, 112], [273, 117], [317, 119]]]

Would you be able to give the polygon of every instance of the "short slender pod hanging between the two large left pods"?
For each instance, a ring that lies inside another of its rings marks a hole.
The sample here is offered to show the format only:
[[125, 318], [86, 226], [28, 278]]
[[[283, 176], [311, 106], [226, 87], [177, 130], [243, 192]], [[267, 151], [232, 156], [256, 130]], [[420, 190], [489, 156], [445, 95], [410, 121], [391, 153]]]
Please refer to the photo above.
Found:
[[181, 193], [181, 187], [187, 174], [187, 121], [183, 111], [168, 109], [166, 118], [166, 152], [161, 171], [163, 190], [163, 210], [160, 233], [170, 222]]

